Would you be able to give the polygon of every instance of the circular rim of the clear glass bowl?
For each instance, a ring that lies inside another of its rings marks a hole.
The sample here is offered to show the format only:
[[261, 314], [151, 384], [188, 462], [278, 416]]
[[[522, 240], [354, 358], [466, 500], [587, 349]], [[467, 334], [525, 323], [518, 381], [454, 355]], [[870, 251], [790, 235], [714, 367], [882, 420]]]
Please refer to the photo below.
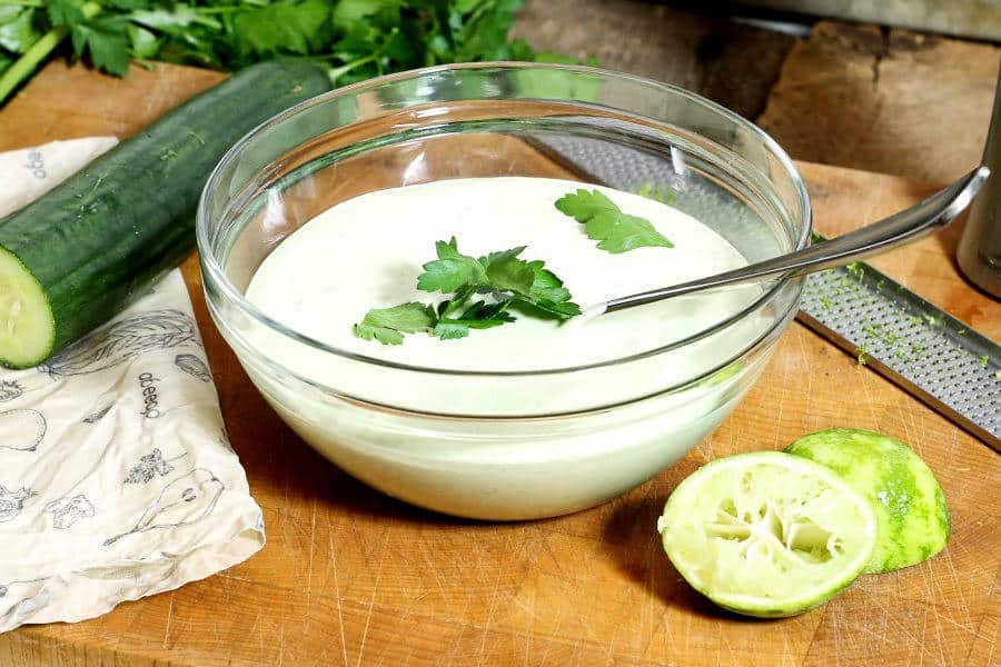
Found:
[[[306, 109], [309, 109], [310, 107], [325, 103], [325, 102], [336, 99], [338, 97], [355, 94], [355, 93], [357, 93], [359, 91], [364, 91], [366, 89], [378, 88], [386, 83], [395, 83], [395, 82], [400, 82], [400, 81], [414, 80], [414, 79], [419, 79], [419, 78], [426, 77], [428, 74], [455, 71], [455, 70], [522, 70], [522, 69], [564, 71], [564, 72], [579, 73], [579, 74], [588, 74], [588, 76], [593, 76], [593, 77], [596, 76], [596, 77], [601, 77], [604, 79], [618, 79], [621, 81], [626, 81], [626, 82], [631, 82], [631, 83], [638, 84], [642, 87], [651, 88], [654, 91], [661, 90], [661, 91], [664, 91], [664, 92], [667, 92], [671, 94], [676, 94], [682, 98], [687, 98], [690, 101], [701, 104], [701, 106], [705, 107], [706, 109], [708, 109], [710, 111], [718, 113], [720, 116], [726, 118], [727, 120], [730, 120], [739, 126], [742, 126], [744, 129], [749, 130], [752, 135], [754, 135], [767, 148], [767, 150], [777, 159], [777, 161], [782, 166], [782, 168], [785, 169], [785, 171], [787, 172], [787, 175], [795, 188], [796, 196], [800, 201], [800, 210], [791, 211], [791, 212], [794, 212], [797, 216], [797, 220], [802, 221], [802, 223], [803, 223], [800, 236], [799, 236], [799, 238], [795, 239], [795, 245], [793, 247], [793, 250], [800, 250], [807, 246], [807, 243], [811, 239], [811, 233], [812, 233], [812, 229], [813, 229], [810, 195], [806, 191], [806, 185], [803, 181], [803, 178], [800, 175], [799, 170], [796, 169], [795, 165], [793, 163], [792, 158], [790, 158], [789, 155], [785, 152], [785, 150], [779, 145], [779, 142], [775, 141], [774, 139], [772, 139], [772, 137], [769, 136], [764, 130], [759, 128], [756, 125], [754, 125], [753, 122], [751, 122], [743, 116], [740, 116], [739, 113], [736, 113], [734, 111], [731, 111], [726, 107], [723, 107], [722, 104], [718, 104], [707, 98], [704, 98], [697, 93], [694, 93], [694, 92], [686, 90], [684, 88], [681, 88], [678, 86], [673, 86], [671, 83], [663, 83], [661, 81], [656, 81], [654, 79], [648, 79], [646, 77], [641, 77], [638, 74], [620, 72], [620, 71], [608, 70], [608, 69], [604, 69], [604, 68], [589, 67], [589, 66], [583, 66], [583, 64], [518, 62], [518, 61], [504, 61], [504, 60], [484, 61], [484, 62], [462, 62], [462, 63], [452, 63], [452, 64], [438, 64], [438, 66], [434, 66], [434, 67], [426, 67], [426, 68], [420, 68], [420, 69], [407, 70], [407, 71], [403, 71], [403, 72], [396, 72], [396, 73], [392, 73], [392, 74], [385, 74], [381, 77], [367, 79], [365, 81], [359, 81], [357, 83], [351, 83], [350, 86], [335, 88], [334, 90], [330, 90], [329, 92], [318, 94], [314, 98], [310, 98], [304, 102], [296, 104], [295, 107], [286, 109], [285, 111], [283, 111], [280, 113], [277, 113], [276, 116], [271, 117], [270, 119], [268, 119], [268, 120], [264, 121], [262, 123], [260, 123], [259, 126], [257, 126], [255, 129], [250, 130], [250, 132], [248, 132], [239, 141], [237, 141], [232, 146], [232, 148], [230, 148], [222, 156], [222, 158], [219, 160], [219, 163], [215, 167], [215, 169], [212, 169], [212, 172], [209, 175], [209, 179], [208, 179], [208, 181], [206, 181], [205, 188], [201, 191], [201, 197], [199, 198], [199, 202], [198, 202], [198, 210], [196, 213], [196, 222], [195, 222], [195, 231], [196, 231], [196, 240], [198, 243], [199, 261], [200, 261], [201, 270], [202, 270], [202, 275], [204, 275], [202, 280], [204, 280], [204, 283], [206, 287], [206, 291], [208, 291], [208, 288], [211, 287], [212, 289], [217, 290], [224, 299], [229, 300], [230, 302], [235, 303], [240, 309], [240, 311], [244, 315], [246, 315], [247, 317], [249, 317], [251, 320], [256, 321], [259, 325], [267, 327], [268, 329], [279, 334], [280, 336], [290, 338], [300, 345], [306, 345], [306, 346], [317, 349], [319, 351], [335, 355], [338, 357], [343, 357], [345, 359], [350, 359], [353, 361], [359, 361], [363, 364], [381, 367], [381, 368], [405, 370], [405, 371], [410, 371], [410, 372], [433, 374], [433, 375], [450, 375], [450, 376], [464, 376], [464, 377], [528, 377], [528, 376], [549, 376], [549, 375], [574, 374], [574, 372], [579, 372], [579, 371], [585, 371], [585, 370], [591, 370], [591, 369], [596, 369], [596, 368], [616, 366], [620, 364], [627, 364], [630, 361], [636, 361], [640, 359], [644, 359], [647, 357], [653, 357], [653, 356], [666, 352], [668, 350], [677, 349], [678, 347], [682, 347], [688, 342], [704, 338], [706, 336], [711, 336], [711, 335], [729, 327], [730, 325], [734, 323], [735, 321], [741, 320], [746, 315], [757, 310], [763, 305], [765, 305], [769, 300], [772, 299], [773, 296], [775, 296], [780, 290], [782, 290], [784, 287], [786, 287], [791, 280], [793, 280], [792, 278], [789, 278], [789, 277], [781, 278], [781, 279], [776, 280], [767, 290], [765, 290], [761, 295], [761, 297], [759, 297], [757, 299], [752, 301], [749, 306], [743, 308], [741, 311], [734, 313], [732, 317], [729, 317], [725, 320], [718, 321], [718, 322], [714, 323], [713, 326], [711, 326], [702, 331], [698, 331], [696, 334], [693, 334], [684, 339], [675, 340], [667, 345], [664, 345], [664, 346], [661, 346], [661, 347], [657, 347], [654, 349], [644, 350], [642, 352], [628, 355], [625, 357], [617, 357], [614, 359], [605, 359], [602, 361], [596, 361], [593, 364], [586, 364], [586, 365], [582, 365], [582, 366], [567, 366], [567, 367], [555, 367], [555, 368], [544, 368], [544, 369], [533, 369], [533, 370], [513, 370], [513, 371], [511, 371], [511, 370], [476, 370], [476, 369], [457, 370], [457, 369], [449, 369], [449, 368], [436, 368], [436, 367], [429, 367], [429, 366], [416, 366], [416, 365], [409, 365], [409, 364], [399, 364], [396, 361], [388, 361], [386, 359], [378, 359], [376, 357], [369, 357], [367, 355], [359, 355], [357, 352], [340, 349], [340, 348], [327, 345], [327, 344], [325, 344], [320, 340], [317, 340], [313, 337], [300, 334], [299, 331], [290, 329], [290, 328], [286, 327], [285, 325], [283, 325], [280, 321], [275, 320], [275, 319], [270, 318], [269, 316], [265, 315], [260, 309], [258, 309], [256, 306], [254, 306], [247, 299], [245, 299], [244, 296], [239, 292], [239, 290], [232, 285], [232, 282], [230, 282], [229, 278], [226, 276], [225, 269], [219, 263], [219, 260], [216, 258], [216, 255], [211, 248], [211, 239], [210, 239], [209, 229], [208, 229], [208, 227], [209, 227], [209, 225], [208, 225], [208, 219], [209, 219], [208, 200], [209, 200], [210, 193], [217, 187], [218, 180], [221, 178], [222, 172], [226, 169], [226, 167], [234, 160], [239, 159], [240, 153], [242, 152], [244, 148], [248, 143], [254, 141], [260, 135], [267, 132], [274, 126], [281, 123], [283, 121], [300, 113], [301, 111], [304, 111]], [[553, 101], [559, 101], [559, 100], [554, 99]], [[583, 104], [583, 102], [574, 102], [573, 100], [566, 100], [566, 101], [568, 103]], [[617, 109], [617, 110], [624, 111], [632, 116], [638, 116], [638, 115], [631, 112], [628, 110], [625, 110], [625, 109]], [[644, 118], [646, 118], [646, 117], [644, 117]], [[658, 120], [652, 119], [652, 118], [647, 118], [647, 120], [651, 120], [656, 123], [662, 122], [662, 121], [658, 121]], [[336, 128], [331, 128], [331, 129], [336, 129]], [[216, 309], [215, 305], [211, 302], [210, 297], [208, 297], [208, 301], [209, 301], [209, 303], [208, 303], [209, 311], [210, 312], [216, 311], [217, 309]], [[781, 316], [775, 317], [775, 323], [772, 327], [770, 327], [767, 331], [765, 331], [762, 336], [757, 337], [755, 340], [750, 341], [747, 347], [745, 347], [741, 352], [734, 355], [733, 358], [727, 359], [725, 362], [718, 365], [717, 369], [725, 368], [726, 366], [729, 366], [736, 359], [751, 352], [752, 349], [756, 348], [764, 340], [767, 340], [769, 338], [771, 338], [771, 336], [774, 334], [774, 330], [776, 328], [783, 326], [784, 322], [789, 321], [789, 317], [787, 317], [789, 310], [791, 310], [792, 308], [796, 308], [797, 303], [799, 303], [799, 299], [793, 299], [792, 307], [790, 309], [787, 309], [785, 312], [783, 312]], [[707, 375], [712, 375], [713, 372], [715, 372], [715, 370], [711, 370], [704, 375], [707, 376]], [[698, 380], [698, 378], [692, 378], [692, 379], [686, 380], [685, 382], [682, 382], [682, 385], [688, 385], [692, 381], [697, 381], [697, 380]], [[667, 389], [665, 389], [665, 391], [670, 391], [672, 389], [676, 389], [676, 387], [667, 388]]]

